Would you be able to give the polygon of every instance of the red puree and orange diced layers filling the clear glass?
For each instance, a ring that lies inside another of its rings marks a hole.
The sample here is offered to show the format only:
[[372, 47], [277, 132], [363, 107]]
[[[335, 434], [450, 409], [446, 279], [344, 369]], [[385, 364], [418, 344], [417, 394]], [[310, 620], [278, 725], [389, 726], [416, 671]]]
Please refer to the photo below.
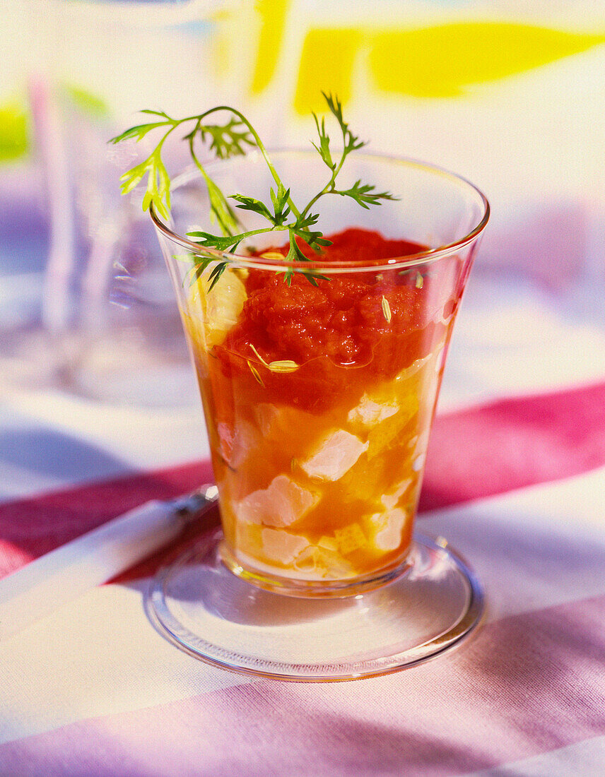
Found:
[[330, 239], [325, 278], [229, 268], [184, 313], [229, 552], [265, 579], [353, 580], [405, 558], [463, 287], [456, 257], [391, 269], [425, 249]]

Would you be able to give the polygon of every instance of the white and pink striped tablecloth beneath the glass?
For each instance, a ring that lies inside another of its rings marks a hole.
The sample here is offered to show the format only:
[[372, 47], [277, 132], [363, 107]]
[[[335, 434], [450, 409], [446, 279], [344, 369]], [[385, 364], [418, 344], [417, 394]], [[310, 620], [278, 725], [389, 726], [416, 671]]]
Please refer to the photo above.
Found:
[[[0, 774], [605, 774], [605, 333], [468, 310], [418, 521], [484, 582], [474, 639], [358, 682], [221, 671], [145, 617], [160, 552], [0, 644]], [[7, 389], [0, 424], [0, 575], [210, 472], [197, 409]]]

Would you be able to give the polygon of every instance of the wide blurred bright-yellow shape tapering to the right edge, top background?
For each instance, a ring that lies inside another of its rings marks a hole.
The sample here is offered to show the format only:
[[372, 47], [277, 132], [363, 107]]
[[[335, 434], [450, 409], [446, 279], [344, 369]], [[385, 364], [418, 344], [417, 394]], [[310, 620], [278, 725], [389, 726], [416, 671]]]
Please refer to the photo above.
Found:
[[313, 29], [303, 44], [295, 108], [302, 114], [322, 108], [322, 89], [346, 102], [354, 89], [355, 59], [364, 49], [379, 89], [439, 98], [463, 95], [470, 85], [522, 73], [603, 41], [603, 35], [498, 22], [374, 33]]

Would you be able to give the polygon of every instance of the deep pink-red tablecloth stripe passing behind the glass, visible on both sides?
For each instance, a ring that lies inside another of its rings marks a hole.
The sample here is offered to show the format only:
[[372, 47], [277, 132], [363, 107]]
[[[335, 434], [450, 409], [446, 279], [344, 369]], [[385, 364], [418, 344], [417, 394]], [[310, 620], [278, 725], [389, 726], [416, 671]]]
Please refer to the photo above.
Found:
[[[503, 399], [437, 416], [420, 510], [489, 497], [601, 465], [605, 465], [605, 382]], [[2, 504], [0, 577], [147, 500], [176, 497], [208, 480], [210, 463], [196, 462]], [[120, 581], [152, 574], [164, 557], [159, 552]]]

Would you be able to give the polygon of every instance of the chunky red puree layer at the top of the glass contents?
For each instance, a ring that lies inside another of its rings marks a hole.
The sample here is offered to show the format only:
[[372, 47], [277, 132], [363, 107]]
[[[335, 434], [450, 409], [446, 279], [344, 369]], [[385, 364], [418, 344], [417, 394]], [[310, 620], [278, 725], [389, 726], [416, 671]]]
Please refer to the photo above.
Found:
[[[418, 243], [387, 240], [358, 228], [330, 235], [330, 240], [333, 244], [321, 256], [327, 263], [376, 263], [425, 250]], [[302, 247], [310, 258], [316, 256], [308, 246]], [[285, 255], [288, 246], [267, 250]], [[325, 273], [330, 275], [329, 270]], [[434, 270], [425, 274], [421, 287], [417, 279], [415, 268], [404, 274], [365, 271], [334, 274], [313, 286], [295, 274], [288, 286], [282, 274], [251, 270], [240, 319], [225, 342], [215, 347], [215, 355], [224, 374], [233, 369], [251, 375], [250, 361], [261, 369], [265, 391], [275, 392], [280, 402], [320, 411], [330, 403], [331, 392], [340, 392], [351, 382], [367, 386], [393, 378], [442, 339], [441, 321], [453, 311], [455, 301], [440, 298]], [[388, 321], [383, 298], [390, 310]], [[267, 362], [291, 360], [301, 368], [286, 375], [262, 369], [251, 344]]]

